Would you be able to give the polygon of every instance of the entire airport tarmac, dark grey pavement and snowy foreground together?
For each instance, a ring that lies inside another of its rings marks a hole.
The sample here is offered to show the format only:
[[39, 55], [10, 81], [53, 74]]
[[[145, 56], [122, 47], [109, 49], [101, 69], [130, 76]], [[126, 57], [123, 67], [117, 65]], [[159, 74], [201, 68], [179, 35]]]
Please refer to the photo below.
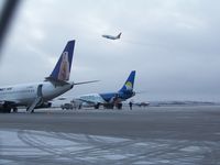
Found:
[[0, 164], [220, 164], [218, 108], [50, 113], [0, 114]]

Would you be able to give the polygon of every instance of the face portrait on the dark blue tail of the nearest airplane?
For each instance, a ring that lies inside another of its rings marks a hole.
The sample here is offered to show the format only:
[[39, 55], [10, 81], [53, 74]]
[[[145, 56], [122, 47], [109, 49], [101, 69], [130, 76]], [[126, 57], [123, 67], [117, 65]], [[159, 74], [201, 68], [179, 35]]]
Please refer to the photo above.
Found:
[[68, 62], [68, 52], [64, 52], [62, 54], [62, 63], [58, 72], [59, 80], [68, 80], [69, 79], [69, 62]]

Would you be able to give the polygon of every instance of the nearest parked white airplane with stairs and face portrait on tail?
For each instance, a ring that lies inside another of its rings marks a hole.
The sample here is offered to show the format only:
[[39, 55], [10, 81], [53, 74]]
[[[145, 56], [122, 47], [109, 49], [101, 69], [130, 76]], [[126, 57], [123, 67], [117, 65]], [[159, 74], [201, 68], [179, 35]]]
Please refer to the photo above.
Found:
[[75, 85], [94, 82], [69, 81], [74, 47], [74, 40], [66, 44], [54, 70], [44, 81], [0, 87], [0, 112], [15, 112], [18, 107], [26, 107], [28, 112], [34, 112], [36, 108], [48, 108], [50, 100], [70, 90]]

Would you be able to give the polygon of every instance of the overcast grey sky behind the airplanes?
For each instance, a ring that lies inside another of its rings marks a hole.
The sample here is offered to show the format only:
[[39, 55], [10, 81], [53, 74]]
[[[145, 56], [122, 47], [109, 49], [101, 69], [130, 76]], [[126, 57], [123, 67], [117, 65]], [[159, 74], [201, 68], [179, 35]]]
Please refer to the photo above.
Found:
[[[44, 80], [68, 40], [70, 79], [100, 79], [68, 96], [117, 91], [136, 70], [134, 100], [220, 101], [220, 1], [29, 0], [13, 20], [0, 85]], [[117, 35], [110, 41], [102, 34]]]

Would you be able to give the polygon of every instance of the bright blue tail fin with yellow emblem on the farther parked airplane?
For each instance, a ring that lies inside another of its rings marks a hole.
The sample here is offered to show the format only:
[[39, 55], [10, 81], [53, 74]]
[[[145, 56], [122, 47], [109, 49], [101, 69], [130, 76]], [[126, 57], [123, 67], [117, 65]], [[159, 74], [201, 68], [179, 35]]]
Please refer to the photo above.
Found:
[[132, 70], [127, 81], [124, 82], [123, 87], [119, 90], [119, 92], [133, 91], [134, 78], [135, 78], [135, 70]]

